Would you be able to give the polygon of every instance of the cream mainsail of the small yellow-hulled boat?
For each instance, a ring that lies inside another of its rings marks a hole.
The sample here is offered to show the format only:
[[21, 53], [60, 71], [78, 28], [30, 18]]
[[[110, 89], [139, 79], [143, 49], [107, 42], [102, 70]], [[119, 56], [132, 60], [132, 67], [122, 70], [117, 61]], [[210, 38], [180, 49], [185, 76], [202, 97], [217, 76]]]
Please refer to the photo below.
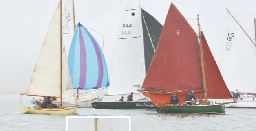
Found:
[[27, 94], [60, 97], [60, 3], [51, 19]]

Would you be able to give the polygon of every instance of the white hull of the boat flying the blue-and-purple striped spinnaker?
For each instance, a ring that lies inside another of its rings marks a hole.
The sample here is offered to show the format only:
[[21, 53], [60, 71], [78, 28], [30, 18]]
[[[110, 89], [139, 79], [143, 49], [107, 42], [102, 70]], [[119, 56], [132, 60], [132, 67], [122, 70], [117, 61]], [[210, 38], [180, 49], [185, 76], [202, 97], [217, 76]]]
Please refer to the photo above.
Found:
[[[77, 101], [77, 106], [79, 108], [82, 107], [92, 107], [91, 103], [93, 102], [101, 102], [103, 98], [98, 98], [94, 100], [83, 100], [83, 101]], [[32, 103], [35, 104], [36, 106], [40, 106], [43, 103], [44, 99], [38, 99], [38, 100], [32, 100]], [[57, 104], [57, 106], [60, 106], [60, 102], [54, 102], [53, 104]], [[67, 102], [62, 102], [62, 106], [64, 107], [73, 107], [74, 105], [71, 103]]]

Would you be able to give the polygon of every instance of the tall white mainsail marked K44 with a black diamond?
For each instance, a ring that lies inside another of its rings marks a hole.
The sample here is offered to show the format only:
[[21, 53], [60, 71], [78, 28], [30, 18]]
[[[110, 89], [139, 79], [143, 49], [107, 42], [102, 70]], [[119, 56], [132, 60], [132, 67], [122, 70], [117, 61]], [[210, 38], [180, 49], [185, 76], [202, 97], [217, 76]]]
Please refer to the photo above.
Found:
[[138, 0], [130, 0], [124, 11], [119, 31], [113, 63], [110, 69], [108, 93], [136, 91], [146, 75], [142, 36], [141, 10]]

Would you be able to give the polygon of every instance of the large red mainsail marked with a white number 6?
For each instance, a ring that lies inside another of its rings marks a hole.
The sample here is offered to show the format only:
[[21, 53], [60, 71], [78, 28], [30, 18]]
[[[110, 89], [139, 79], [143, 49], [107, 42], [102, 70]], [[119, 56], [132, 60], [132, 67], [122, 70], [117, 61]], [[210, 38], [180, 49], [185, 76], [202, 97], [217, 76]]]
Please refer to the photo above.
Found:
[[197, 35], [171, 4], [142, 88], [180, 91], [200, 90], [202, 85]]

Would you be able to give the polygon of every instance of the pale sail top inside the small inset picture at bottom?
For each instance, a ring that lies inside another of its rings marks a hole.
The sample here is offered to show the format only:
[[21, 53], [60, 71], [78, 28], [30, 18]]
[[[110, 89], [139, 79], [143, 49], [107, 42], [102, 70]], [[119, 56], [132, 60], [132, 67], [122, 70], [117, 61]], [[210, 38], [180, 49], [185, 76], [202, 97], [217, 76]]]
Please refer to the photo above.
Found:
[[[97, 129], [95, 129], [95, 127]], [[113, 131], [110, 119], [108, 118], [91, 118], [85, 131]]]

